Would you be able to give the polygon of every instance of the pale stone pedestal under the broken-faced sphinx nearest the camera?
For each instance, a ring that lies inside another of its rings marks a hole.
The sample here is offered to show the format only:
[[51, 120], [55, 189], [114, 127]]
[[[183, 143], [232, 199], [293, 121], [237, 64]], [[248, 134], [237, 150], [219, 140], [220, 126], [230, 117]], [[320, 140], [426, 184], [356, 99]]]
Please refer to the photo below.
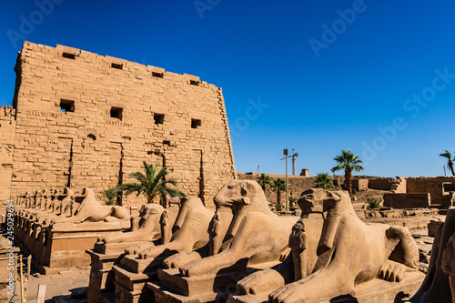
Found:
[[[387, 303], [401, 302], [401, 298], [412, 296], [420, 287], [425, 275], [421, 272], [413, 272], [405, 275], [401, 282], [388, 282], [375, 278], [367, 283], [360, 284], [354, 289], [351, 296], [340, 296], [338, 298], [322, 298], [313, 303]], [[272, 292], [273, 290], [270, 290]], [[311, 289], [308, 289], [311, 291]], [[240, 296], [232, 294], [227, 303], [268, 303], [268, 294], [258, 296]]]

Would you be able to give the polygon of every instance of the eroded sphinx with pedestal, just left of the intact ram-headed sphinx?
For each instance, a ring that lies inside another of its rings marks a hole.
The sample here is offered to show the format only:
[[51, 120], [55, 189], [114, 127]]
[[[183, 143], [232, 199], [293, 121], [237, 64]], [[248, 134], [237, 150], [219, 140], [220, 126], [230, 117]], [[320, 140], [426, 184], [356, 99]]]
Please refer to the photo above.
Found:
[[209, 240], [207, 229], [213, 214], [198, 197], [171, 199], [160, 220], [162, 244], [128, 247], [128, 255], [113, 267], [116, 300], [132, 303], [153, 298], [146, 283], [150, 278], [157, 278], [157, 269], [163, 267], [165, 258], [175, 254], [200, 258], [199, 248], [207, 250], [204, 247]]

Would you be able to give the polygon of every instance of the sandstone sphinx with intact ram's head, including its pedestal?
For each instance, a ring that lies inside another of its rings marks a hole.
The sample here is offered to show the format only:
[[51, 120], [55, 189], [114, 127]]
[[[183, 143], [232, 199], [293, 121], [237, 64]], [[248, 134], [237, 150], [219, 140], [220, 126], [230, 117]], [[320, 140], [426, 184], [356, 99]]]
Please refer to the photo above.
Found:
[[288, 257], [288, 235], [298, 218], [271, 212], [256, 181], [233, 180], [214, 202], [217, 212], [208, 230], [209, 257], [192, 252], [167, 258], [170, 269], [158, 270], [160, 281], [148, 284], [158, 302], [177, 302], [182, 295], [188, 302], [212, 301], [233, 291], [225, 285], [227, 278], [234, 286], [263, 265], [269, 268]]

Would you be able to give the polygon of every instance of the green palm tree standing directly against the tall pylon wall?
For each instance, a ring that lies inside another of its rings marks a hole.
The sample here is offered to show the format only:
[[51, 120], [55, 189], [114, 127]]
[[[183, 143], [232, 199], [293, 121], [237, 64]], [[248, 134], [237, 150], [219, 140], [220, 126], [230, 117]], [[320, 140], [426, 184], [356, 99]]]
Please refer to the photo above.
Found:
[[159, 203], [165, 207], [165, 197], [185, 197], [186, 195], [181, 191], [167, 187], [167, 184], [177, 185], [176, 180], [165, 179], [167, 175], [167, 167], [161, 168], [158, 172], [158, 164], [148, 165], [144, 161], [144, 172], [132, 173], [130, 178], [135, 178], [139, 183], [127, 183], [120, 185], [121, 190], [125, 190], [125, 194], [136, 193], [137, 196], [144, 195], [147, 197], [147, 203], [153, 203], [154, 197], [160, 197]]

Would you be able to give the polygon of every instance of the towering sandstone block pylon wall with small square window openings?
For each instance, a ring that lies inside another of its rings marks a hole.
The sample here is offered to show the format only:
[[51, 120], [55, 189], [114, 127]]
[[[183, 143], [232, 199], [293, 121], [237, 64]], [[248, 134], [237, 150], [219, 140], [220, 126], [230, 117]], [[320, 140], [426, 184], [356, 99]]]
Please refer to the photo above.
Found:
[[15, 71], [12, 197], [66, 186], [99, 193], [131, 182], [146, 160], [167, 165], [178, 189], [210, 207], [236, 176], [221, 88], [197, 76], [30, 42]]

